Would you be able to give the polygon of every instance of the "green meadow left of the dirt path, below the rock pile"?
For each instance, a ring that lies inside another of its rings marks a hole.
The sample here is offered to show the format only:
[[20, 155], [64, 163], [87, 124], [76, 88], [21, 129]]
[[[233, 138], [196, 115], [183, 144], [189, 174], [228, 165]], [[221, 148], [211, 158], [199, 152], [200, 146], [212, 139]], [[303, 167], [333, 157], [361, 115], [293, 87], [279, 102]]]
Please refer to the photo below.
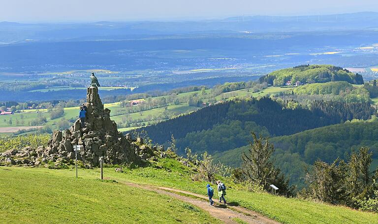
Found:
[[[96, 170], [0, 167], [0, 223], [218, 224], [174, 198], [100, 181]], [[31, 184], [32, 183], [32, 184]]]

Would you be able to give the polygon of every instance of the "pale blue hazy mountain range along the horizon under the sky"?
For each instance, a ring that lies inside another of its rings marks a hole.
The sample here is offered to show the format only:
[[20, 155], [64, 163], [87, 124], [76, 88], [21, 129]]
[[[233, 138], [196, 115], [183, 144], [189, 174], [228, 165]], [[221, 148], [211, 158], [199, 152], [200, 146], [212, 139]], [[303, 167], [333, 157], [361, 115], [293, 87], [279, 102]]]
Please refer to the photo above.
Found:
[[0, 44], [30, 41], [130, 39], [187, 33], [304, 32], [378, 28], [377, 12], [312, 16], [240, 16], [202, 21], [136, 21], [77, 24], [0, 22]]

